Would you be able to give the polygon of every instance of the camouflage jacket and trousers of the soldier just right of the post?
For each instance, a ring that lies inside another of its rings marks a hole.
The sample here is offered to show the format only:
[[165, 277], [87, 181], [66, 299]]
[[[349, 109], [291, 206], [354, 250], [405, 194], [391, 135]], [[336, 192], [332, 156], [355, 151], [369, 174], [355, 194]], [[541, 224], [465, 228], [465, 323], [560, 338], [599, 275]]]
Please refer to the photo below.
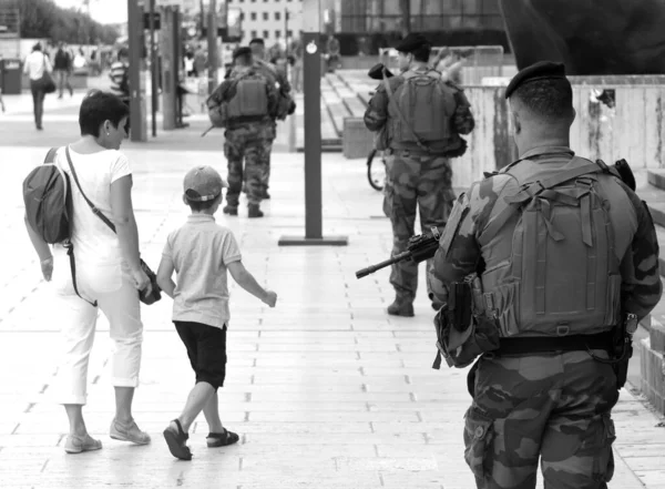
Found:
[[[389, 83], [395, 93], [403, 83], [403, 79], [393, 77], [389, 79]], [[409, 238], [415, 234], [417, 207], [420, 210], [422, 232], [428, 232], [431, 226], [446, 225], [454, 202], [450, 156], [463, 153], [467, 146], [459, 134], [469, 134], [474, 128], [474, 120], [463, 92], [452, 84], [448, 86], [454, 92], [457, 101], [451, 121], [454, 141], [450, 150], [436, 151], [433, 154], [426, 154], [417, 146], [411, 150], [387, 151], [383, 212], [390, 217], [392, 225], [393, 255], [405, 252]], [[370, 131], [379, 131], [389, 123], [388, 104], [388, 93], [381, 83], [365, 113], [365, 124]], [[431, 259], [428, 261], [428, 269], [432, 263]], [[395, 287], [398, 302], [412, 303], [418, 286], [418, 264], [402, 262], [392, 265], [390, 283]], [[429, 279], [428, 295], [432, 297]]]

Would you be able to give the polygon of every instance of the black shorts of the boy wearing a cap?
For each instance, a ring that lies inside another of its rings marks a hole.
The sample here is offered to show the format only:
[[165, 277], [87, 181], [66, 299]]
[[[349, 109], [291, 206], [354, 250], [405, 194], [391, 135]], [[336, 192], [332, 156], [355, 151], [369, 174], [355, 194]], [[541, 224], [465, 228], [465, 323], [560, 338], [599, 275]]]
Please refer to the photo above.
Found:
[[187, 348], [196, 383], [208, 383], [217, 390], [226, 377], [226, 325], [217, 328], [182, 320], [174, 320], [173, 324]]

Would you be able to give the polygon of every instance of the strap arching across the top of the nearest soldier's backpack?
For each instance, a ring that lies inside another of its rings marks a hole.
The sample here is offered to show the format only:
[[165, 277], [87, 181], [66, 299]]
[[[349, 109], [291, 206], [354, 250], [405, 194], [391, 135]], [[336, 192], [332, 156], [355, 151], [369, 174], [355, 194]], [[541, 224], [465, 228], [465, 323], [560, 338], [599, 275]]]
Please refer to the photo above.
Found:
[[610, 169], [603, 162], [601, 162], [602, 164], [600, 164], [598, 162], [592, 163], [589, 160], [584, 160], [579, 156], [573, 156], [571, 161], [573, 160], [583, 162], [583, 164], [573, 169], [565, 170], [563, 172], [559, 172], [555, 175], [550, 176], [549, 179], [529, 183], [515, 195], [505, 197], [505, 202], [510, 205], [503, 211], [501, 211], [501, 213], [488, 224], [488, 227], [485, 227], [483, 234], [489, 236], [488, 240], [491, 240], [493, 236], [497, 235], [497, 233], [499, 233], [499, 230], [501, 230], [501, 227], [503, 227], [503, 225], [519, 211], [522, 204], [531, 201], [533, 197], [540, 195], [541, 193], [545, 191], [551, 191], [551, 189], [561, 185], [562, 183], [565, 183], [567, 181], [577, 179], [582, 175], [589, 175], [601, 172], [614, 175], [614, 173], [610, 172]]

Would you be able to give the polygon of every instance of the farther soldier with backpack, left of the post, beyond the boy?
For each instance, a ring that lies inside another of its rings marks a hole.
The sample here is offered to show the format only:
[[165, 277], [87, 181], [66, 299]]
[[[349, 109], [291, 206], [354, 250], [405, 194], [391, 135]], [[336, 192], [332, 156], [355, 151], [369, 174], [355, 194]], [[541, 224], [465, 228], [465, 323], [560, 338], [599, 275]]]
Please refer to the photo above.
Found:
[[275, 84], [256, 69], [249, 48], [233, 53], [234, 68], [228, 79], [211, 95], [224, 106], [226, 132], [224, 154], [228, 160], [228, 192], [224, 214], [238, 215], [243, 186], [243, 160], [247, 179], [249, 217], [263, 217], [263, 175], [268, 161], [268, 149], [275, 137], [274, 118], [277, 110]]

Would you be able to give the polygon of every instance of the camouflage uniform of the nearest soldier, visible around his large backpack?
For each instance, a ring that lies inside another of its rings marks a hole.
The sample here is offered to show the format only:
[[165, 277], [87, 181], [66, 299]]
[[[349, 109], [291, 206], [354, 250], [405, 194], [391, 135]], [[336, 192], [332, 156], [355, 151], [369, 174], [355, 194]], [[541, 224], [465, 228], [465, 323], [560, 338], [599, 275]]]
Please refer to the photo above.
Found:
[[[555, 172], [572, 154], [567, 147], [538, 149], [518, 164], [538, 166], [540, 157], [554, 155], [561, 163], [548, 161], [548, 165]], [[655, 228], [630, 189], [608, 175], [598, 175], [598, 185], [608, 191], [604, 195], [613, 227], [624, 224], [615, 241], [615, 253], [623, 258], [622, 309], [643, 318], [662, 294]], [[488, 224], [508, 205], [503, 196], [518, 191], [514, 177], [499, 174], [474, 183], [459, 196], [452, 211], [453, 216], [461, 216], [459, 225], [444, 230], [434, 256], [431, 285], [439, 302], [448, 302], [449, 284], [473, 272], [483, 273], [485, 262], [497, 258], [479, 243]], [[618, 205], [626, 202], [626, 195], [632, 210]], [[607, 358], [604, 350], [594, 353]], [[539, 458], [545, 487], [607, 487], [614, 469], [611, 410], [618, 398], [611, 365], [582, 350], [484, 355], [475, 367], [464, 444], [479, 488], [533, 489]]]

